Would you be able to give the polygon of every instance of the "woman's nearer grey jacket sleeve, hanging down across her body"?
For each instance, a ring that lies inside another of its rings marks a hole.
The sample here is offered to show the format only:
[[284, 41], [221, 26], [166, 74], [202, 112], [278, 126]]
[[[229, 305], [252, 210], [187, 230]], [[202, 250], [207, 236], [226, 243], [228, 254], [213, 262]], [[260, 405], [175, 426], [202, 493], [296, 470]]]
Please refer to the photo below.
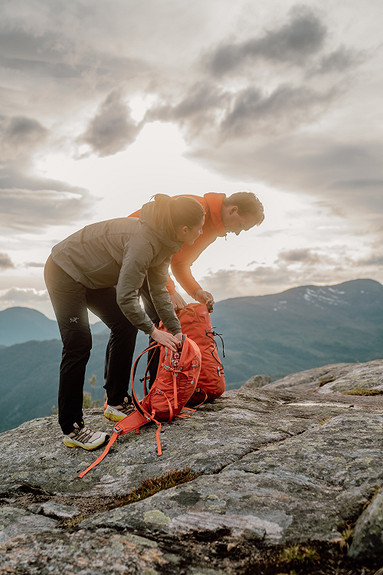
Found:
[[116, 286], [117, 303], [122, 312], [137, 329], [147, 334], [152, 333], [154, 324], [140, 305], [139, 290], [153, 256], [154, 250], [150, 242], [140, 235], [132, 238], [125, 247]]

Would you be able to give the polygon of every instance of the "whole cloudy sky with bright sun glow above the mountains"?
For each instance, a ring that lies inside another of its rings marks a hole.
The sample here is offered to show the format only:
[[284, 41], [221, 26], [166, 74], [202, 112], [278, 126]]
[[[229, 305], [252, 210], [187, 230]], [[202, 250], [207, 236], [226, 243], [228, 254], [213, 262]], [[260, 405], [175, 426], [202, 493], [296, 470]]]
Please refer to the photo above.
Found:
[[51, 247], [157, 193], [256, 193], [215, 299], [383, 282], [381, 0], [2, 0], [0, 309]]

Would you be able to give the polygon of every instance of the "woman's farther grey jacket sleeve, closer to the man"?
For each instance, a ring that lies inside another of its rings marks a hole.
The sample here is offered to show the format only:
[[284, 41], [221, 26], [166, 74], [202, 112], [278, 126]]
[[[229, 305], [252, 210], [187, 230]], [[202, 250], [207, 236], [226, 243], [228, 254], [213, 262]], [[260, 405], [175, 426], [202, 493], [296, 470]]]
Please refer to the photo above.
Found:
[[148, 286], [156, 311], [168, 331], [173, 335], [182, 331], [167, 290], [170, 257], [159, 266], [148, 269]]

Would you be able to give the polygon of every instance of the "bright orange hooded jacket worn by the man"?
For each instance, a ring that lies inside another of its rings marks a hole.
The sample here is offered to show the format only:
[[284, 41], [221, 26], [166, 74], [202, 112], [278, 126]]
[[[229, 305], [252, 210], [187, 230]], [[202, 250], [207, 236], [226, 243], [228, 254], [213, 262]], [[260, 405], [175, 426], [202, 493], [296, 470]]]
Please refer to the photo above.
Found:
[[[205, 223], [202, 228], [202, 234], [194, 242], [193, 245], [183, 244], [182, 248], [173, 255], [171, 260], [171, 269], [174, 277], [180, 286], [194, 298], [197, 290], [203, 289], [199, 283], [194, 279], [191, 273], [191, 266], [198, 258], [198, 256], [218, 237], [226, 235], [226, 231], [222, 222], [222, 201], [225, 194], [217, 194], [216, 192], [209, 192], [203, 197], [185, 194], [189, 198], [197, 200], [205, 210]], [[175, 196], [177, 197], [177, 196]], [[134, 212], [130, 217], [137, 218], [140, 211]], [[169, 294], [172, 295], [176, 291], [175, 285], [169, 276], [167, 289]]]

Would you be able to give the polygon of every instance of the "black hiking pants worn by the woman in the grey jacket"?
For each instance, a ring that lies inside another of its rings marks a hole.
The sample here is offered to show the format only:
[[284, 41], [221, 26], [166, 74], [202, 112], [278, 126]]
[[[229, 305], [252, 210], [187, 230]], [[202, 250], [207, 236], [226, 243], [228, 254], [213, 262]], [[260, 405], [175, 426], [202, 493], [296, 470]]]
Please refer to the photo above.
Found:
[[59, 424], [67, 435], [73, 431], [73, 423], [82, 425], [85, 369], [92, 348], [88, 309], [110, 329], [104, 386], [110, 405], [119, 405], [128, 395], [137, 328], [122, 313], [114, 287], [88, 289], [51, 257], [45, 265], [44, 277], [63, 342], [58, 411]]

